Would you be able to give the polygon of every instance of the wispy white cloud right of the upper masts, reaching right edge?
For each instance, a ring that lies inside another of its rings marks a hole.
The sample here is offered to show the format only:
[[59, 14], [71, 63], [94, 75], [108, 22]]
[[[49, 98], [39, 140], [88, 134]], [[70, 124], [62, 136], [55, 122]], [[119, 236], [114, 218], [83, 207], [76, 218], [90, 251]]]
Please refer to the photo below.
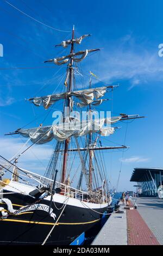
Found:
[[133, 35], [121, 38], [114, 45], [101, 51], [100, 70], [94, 64], [92, 70], [98, 71], [101, 80], [107, 82], [128, 80], [131, 86], [146, 85], [149, 82], [162, 82], [163, 58], [158, 56], [158, 46], [148, 47], [146, 40], [138, 44]]

